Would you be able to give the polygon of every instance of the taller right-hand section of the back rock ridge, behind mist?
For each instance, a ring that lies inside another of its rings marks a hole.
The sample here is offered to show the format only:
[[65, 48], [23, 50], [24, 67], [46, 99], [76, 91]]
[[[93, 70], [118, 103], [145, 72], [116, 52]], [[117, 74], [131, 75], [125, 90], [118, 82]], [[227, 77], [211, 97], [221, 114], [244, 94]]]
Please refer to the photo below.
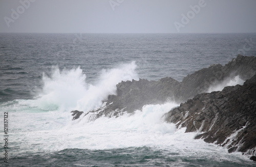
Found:
[[239, 54], [225, 66], [211, 65], [184, 77], [176, 89], [175, 97], [178, 102], [184, 102], [226, 78], [239, 75], [241, 79], [246, 80], [254, 74], [256, 74], [256, 57], [245, 57]]

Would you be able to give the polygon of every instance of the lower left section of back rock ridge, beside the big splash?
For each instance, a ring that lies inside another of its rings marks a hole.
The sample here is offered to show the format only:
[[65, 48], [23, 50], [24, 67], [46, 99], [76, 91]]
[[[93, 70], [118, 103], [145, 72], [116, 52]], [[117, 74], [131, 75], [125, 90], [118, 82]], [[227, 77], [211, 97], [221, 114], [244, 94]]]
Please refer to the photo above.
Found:
[[138, 81], [122, 81], [117, 85], [117, 95], [109, 95], [104, 109], [98, 116], [117, 116], [120, 111], [128, 113], [141, 109], [145, 104], [159, 104], [174, 96], [175, 87], [179, 82], [166, 77], [158, 81], [139, 79]]

